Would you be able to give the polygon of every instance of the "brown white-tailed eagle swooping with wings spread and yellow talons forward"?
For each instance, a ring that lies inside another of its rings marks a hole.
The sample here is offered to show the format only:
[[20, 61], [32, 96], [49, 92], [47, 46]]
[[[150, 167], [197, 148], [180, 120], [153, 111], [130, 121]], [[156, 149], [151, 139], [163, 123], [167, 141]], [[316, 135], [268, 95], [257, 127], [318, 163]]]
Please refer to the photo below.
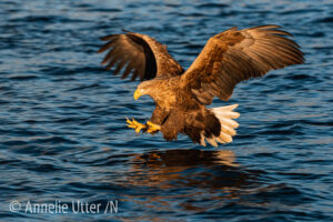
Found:
[[155, 101], [155, 110], [145, 124], [128, 119], [128, 127], [139, 133], [161, 131], [167, 141], [186, 134], [194, 143], [205, 141], [218, 147], [236, 134], [239, 118], [228, 105], [206, 108], [213, 98], [228, 101], [234, 87], [251, 78], [263, 77], [270, 70], [304, 62], [300, 47], [279, 26], [260, 26], [238, 30], [231, 28], [211, 37], [201, 53], [184, 71], [168, 53], [167, 47], [153, 38], [124, 31], [101, 38], [108, 41], [98, 51], [109, 50], [102, 64], [122, 79], [131, 74], [141, 82], [134, 99], [148, 94]]

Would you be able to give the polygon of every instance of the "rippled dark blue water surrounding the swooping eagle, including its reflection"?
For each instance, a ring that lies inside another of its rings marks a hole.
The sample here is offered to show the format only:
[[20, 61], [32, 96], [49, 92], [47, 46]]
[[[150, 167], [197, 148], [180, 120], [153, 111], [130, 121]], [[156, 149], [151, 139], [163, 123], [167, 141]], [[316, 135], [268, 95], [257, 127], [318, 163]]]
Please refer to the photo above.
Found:
[[[100, 37], [150, 34], [188, 68], [209, 37], [268, 23], [294, 34], [306, 63], [214, 101], [240, 104], [234, 142], [125, 127], [153, 101], [104, 71]], [[331, 0], [0, 1], [0, 221], [333, 221], [332, 30]], [[118, 212], [24, 212], [56, 200]]]

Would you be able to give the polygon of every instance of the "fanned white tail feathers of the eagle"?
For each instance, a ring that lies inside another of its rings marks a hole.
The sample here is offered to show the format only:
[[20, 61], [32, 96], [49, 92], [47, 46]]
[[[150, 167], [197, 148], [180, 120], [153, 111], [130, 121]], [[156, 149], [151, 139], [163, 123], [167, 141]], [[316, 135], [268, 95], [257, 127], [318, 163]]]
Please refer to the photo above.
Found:
[[213, 137], [213, 138], [205, 138], [204, 133], [202, 132], [201, 141], [200, 141], [201, 145], [205, 147], [204, 140], [206, 140], [213, 147], [218, 147], [216, 142], [220, 143], [232, 142], [232, 137], [236, 134], [236, 131], [234, 129], [240, 125], [236, 121], [232, 120], [240, 117], [240, 113], [232, 111], [238, 107], [239, 107], [238, 104], [232, 104], [232, 105], [210, 109], [221, 123], [221, 132], [220, 132], [220, 137]]

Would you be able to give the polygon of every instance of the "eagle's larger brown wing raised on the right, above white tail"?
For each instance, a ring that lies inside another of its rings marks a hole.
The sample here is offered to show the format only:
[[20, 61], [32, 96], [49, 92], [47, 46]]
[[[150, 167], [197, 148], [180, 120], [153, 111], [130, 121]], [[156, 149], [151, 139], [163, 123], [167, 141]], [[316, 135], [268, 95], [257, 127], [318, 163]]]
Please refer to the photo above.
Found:
[[273, 69], [303, 63], [299, 46], [279, 26], [229, 29], [209, 39], [199, 57], [181, 77], [181, 88], [190, 90], [203, 104], [216, 95], [229, 100], [236, 83], [262, 77]]

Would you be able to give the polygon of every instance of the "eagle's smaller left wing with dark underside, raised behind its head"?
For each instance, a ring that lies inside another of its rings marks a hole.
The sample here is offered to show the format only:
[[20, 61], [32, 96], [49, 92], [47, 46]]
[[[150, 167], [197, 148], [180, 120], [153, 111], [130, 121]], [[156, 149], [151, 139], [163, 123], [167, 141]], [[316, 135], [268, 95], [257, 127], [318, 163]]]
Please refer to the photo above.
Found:
[[111, 34], [101, 38], [108, 41], [99, 51], [109, 50], [102, 63], [121, 78], [133, 73], [131, 80], [140, 77], [140, 80], [149, 80], [159, 75], [172, 77], [183, 73], [182, 67], [168, 53], [167, 47], [145, 34], [125, 31], [124, 34]]

